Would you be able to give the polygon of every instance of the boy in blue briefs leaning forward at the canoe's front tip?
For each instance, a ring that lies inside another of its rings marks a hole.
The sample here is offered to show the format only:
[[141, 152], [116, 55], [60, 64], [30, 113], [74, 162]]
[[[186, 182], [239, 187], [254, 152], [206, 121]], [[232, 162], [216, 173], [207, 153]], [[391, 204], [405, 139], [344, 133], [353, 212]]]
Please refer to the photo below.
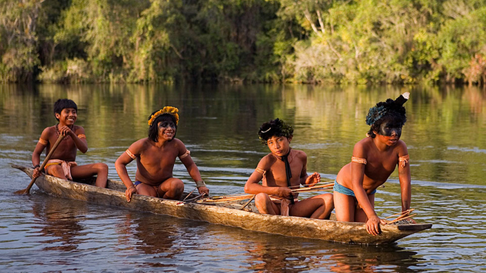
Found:
[[334, 205], [338, 221], [365, 222], [369, 234], [380, 234], [380, 223], [374, 210], [376, 188], [385, 183], [398, 165], [402, 194], [402, 212], [409, 210], [411, 177], [409, 153], [400, 140], [402, 126], [407, 121], [402, 106], [409, 99], [409, 92], [395, 101], [387, 99], [369, 109], [367, 137], [353, 148], [351, 163], [338, 173], [334, 183]]

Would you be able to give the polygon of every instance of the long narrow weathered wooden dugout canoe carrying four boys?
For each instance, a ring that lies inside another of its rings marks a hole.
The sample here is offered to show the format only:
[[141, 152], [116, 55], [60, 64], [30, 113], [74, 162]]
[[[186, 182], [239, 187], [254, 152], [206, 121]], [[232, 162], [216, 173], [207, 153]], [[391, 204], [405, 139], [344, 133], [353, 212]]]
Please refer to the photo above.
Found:
[[[19, 165], [12, 165], [12, 167], [32, 176], [32, 168]], [[93, 186], [94, 179], [85, 182], [77, 183], [43, 175], [36, 179], [35, 184], [41, 190], [53, 196], [229, 225], [244, 230], [340, 243], [391, 243], [432, 226], [431, 224], [382, 225], [382, 234], [372, 236], [366, 232], [364, 223], [259, 214], [218, 205], [173, 201], [142, 195], [133, 196], [132, 201], [128, 203], [124, 193], [126, 188], [121, 181], [108, 181], [108, 188], [106, 189]]]

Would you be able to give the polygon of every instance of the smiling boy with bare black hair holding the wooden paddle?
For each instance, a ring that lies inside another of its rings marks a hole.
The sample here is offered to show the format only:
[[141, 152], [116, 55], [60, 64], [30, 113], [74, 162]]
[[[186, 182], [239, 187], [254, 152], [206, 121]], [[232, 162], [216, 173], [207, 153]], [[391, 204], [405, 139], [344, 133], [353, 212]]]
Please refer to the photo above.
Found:
[[61, 134], [64, 135], [64, 139], [59, 143], [51, 159], [47, 161], [44, 167], [46, 174], [69, 180], [85, 179], [97, 175], [96, 185], [106, 188], [108, 165], [105, 163], [77, 165], [75, 162], [77, 150], [83, 153], [88, 151], [84, 128], [75, 125], [77, 120], [76, 103], [70, 99], [58, 99], [54, 103], [54, 117], [59, 123], [42, 131], [41, 138], [37, 142], [34, 152], [32, 152], [33, 178], [41, 175], [39, 162], [41, 161], [42, 151], [47, 148], [46, 153], [48, 153]]

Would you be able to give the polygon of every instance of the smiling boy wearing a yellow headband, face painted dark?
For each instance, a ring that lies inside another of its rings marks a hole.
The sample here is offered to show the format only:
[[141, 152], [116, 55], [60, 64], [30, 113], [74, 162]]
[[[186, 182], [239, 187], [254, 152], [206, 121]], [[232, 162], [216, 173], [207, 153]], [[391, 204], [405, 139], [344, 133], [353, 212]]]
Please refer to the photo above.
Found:
[[[191, 158], [186, 145], [175, 138], [179, 110], [166, 106], [148, 117], [148, 137], [135, 141], [118, 157], [115, 162], [117, 173], [125, 184], [126, 201], [130, 202], [132, 194], [161, 197], [179, 200], [184, 193], [184, 183], [173, 177], [175, 159], [186, 166], [189, 175], [196, 182], [200, 194], [209, 194], [209, 189], [201, 179], [201, 174]], [[126, 165], [137, 159], [135, 183], [130, 180]]]

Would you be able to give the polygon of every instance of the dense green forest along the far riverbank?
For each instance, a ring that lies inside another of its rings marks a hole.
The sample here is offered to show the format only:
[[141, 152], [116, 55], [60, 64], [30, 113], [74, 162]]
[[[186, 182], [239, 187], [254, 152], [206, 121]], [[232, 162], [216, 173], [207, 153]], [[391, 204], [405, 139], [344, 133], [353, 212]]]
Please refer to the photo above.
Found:
[[486, 82], [486, 0], [0, 0], [0, 81]]

